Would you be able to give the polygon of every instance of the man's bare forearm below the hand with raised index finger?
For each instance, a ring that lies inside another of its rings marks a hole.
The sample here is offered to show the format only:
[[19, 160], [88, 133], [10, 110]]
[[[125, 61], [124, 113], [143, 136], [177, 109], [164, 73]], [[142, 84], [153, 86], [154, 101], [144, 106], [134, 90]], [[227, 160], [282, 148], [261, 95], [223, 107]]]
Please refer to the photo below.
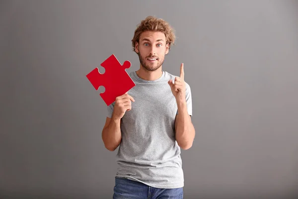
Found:
[[184, 149], [189, 149], [195, 138], [195, 128], [191, 122], [190, 115], [187, 112], [186, 102], [177, 102], [178, 115], [175, 121], [175, 137], [178, 145]]

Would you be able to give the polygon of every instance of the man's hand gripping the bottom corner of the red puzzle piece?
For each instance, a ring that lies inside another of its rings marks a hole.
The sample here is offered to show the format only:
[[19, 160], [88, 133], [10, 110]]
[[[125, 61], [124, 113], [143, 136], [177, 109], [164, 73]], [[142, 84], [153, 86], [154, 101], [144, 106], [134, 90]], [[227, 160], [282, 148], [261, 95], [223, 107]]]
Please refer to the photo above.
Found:
[[124, 95], [116, 98], [113, 119], [121, 119], [126, 111], [130, 111], [132, 108], [132, 101], [135, 101], [133, 97], [126, 92]]

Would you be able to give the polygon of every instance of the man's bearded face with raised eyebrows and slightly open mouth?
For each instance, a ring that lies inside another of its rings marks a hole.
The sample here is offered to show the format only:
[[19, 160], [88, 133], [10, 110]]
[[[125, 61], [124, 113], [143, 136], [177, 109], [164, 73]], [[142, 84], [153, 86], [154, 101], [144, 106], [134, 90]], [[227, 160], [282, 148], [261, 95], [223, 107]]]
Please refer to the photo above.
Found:
[[136, 52], [139, 55], [141, 65], [148, 71], [157, 70], [168, 53], [165, 35], [162, 32], [146, 31], [140, 35], [139, 43], [136, 43]]

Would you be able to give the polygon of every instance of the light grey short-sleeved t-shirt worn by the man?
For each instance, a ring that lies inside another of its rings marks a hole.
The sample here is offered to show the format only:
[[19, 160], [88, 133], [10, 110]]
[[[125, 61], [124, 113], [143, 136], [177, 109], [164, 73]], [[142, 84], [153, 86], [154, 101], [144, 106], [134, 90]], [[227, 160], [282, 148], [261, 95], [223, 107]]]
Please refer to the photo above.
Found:
[[[154, 81], [141, 79], [136, 72], [129, 73], [136, 86], [128, 94], [132, 109], [122, 118], [120, 143], [115, 177], [128, 178], [155, 188], [171, 189], [184, 186], [180, 147], [175, 140], [177, 103], [168, 80], [176, 76], [163, 71]], [[192, 115], [192, 98], [186, 83], [186, 101]], [[115, 102], [108, 106], [112, 116]]]

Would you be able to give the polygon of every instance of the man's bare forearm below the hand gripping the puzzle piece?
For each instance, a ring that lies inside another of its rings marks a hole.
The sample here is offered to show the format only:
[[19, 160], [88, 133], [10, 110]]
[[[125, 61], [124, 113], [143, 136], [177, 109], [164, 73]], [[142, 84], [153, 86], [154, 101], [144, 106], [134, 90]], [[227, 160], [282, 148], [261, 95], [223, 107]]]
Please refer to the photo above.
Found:
[[120, 122], [121, 119], [112, 117], [109, 125], [102, 130], [102, 140], [109, 151], [114, 151], [121, 142]]

